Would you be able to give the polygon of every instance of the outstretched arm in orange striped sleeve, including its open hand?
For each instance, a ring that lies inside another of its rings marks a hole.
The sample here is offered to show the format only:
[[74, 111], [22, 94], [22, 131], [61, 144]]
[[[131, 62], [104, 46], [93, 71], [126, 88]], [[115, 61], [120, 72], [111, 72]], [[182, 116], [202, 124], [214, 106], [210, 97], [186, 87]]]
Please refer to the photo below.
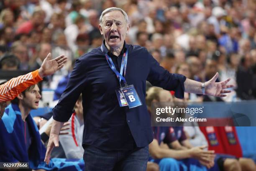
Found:
[[67, 57], [64, 55], [51, 59], [51, 53], [49, 53], [39, 69], [26, 75], [10, 79], [10, 81], [0, 85], [0, 119], [5, 111], [7, 101], [14, 99], [25, 89], [38, 83], [43, 77], [54, 74], [58, 69], [61, 69], [66, 62]]

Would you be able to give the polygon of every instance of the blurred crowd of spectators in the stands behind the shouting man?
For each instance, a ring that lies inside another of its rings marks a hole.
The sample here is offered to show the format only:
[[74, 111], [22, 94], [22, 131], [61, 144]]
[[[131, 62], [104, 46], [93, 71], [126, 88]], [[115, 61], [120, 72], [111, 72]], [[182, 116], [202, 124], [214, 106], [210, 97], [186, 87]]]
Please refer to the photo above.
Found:
[[201, 82], [219, 72], [218, 81], [235, 85], [225, 99], [190, 99], [256, 98], [255, 0], [2, 0], [0, 69], [37, 69], [51, 52], [69, 57], [56, 73], [67, 76], [75, 59], [102, 44], [99, 16], [113, 6], [129, 16], [126, 43], [146, 47], [169, 72]]

